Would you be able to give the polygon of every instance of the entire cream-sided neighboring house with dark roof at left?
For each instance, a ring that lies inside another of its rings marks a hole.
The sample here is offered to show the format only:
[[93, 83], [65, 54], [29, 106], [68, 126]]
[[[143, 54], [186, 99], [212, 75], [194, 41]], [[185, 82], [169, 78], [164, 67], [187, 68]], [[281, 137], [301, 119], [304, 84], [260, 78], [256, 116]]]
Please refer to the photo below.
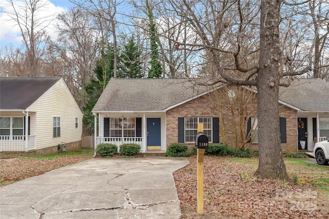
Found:
[[82, 116], [60, 77], [0, 78], [0, 151], [81, 148]]

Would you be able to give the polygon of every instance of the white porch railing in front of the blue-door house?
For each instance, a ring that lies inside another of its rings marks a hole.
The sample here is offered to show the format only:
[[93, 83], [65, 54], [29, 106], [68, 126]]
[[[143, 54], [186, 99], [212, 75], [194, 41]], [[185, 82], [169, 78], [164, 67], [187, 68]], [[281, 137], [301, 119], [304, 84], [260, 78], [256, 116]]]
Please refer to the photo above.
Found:
[[101, 143], [109, 143], [118, 146], [119, 152], [122, 144], [137, 144], [140, 145], [140, 151], [143, 152], [143, 140], [143, 137], [96, 137], [96, 148]]

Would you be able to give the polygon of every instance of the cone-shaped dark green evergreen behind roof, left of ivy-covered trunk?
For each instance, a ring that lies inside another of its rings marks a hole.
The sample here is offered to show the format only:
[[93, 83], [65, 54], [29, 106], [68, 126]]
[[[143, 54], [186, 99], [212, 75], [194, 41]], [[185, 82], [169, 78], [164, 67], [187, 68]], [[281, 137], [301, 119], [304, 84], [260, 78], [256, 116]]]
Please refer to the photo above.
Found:
[[121, 66], [118, 67], [118, 77], [140, 78], [144, 76], [141, 70], [140, 54], [133, 35], [124, 45], [124, 50], [120, 54]]

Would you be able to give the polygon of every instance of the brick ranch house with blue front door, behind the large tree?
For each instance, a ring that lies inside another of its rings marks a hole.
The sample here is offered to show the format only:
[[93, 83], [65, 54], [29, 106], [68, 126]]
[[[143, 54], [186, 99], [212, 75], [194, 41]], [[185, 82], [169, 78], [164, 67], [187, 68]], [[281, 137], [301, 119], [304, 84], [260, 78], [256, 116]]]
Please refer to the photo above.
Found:
[[[223, 136], [210, 99], [213, 91], [188, 79], [112, 78], [93, 109], [95, 130], [97, 126], [99, 130], [95, 150], [100, 143], [137, 143], [143, 153], [165, 152], [176, 142], [193, 147], [197, 123], [204, 124], [209, 142], [219, 143]], [[329, 84], [319, 78], [295, 79], [280, 88], [283, 152], [312, 151], [314, 142], [329, 136], [328, 93]], [[257, 99], [249, 104], [250, 120], [257, 115]], [[232, 115], [226, 109], [223, 117], [227, 142], [233, 145], [234, 133], [228, 128], [233, 126]], [[246, 124], [250, 126], [249, 121]], [[258, 149], [257, 138], [251, 149]]]

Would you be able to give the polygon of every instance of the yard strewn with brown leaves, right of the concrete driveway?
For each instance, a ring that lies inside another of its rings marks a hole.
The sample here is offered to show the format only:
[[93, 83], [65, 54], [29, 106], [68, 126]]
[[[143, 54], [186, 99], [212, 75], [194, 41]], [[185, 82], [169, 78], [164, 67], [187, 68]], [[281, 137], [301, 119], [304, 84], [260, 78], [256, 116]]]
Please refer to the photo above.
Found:
[[191, 157], [188, 166], [174, 172], [182, 218], [329, 218], [328, 191], [310, 184], [326, 169], [308, 167], [313, 169], [308, 172], [304, 166], [286, 165], [291, 178], [296, 171], [304, 172], [303, 185], [254, 178], [256, 158], [205, 156], [204, 214], [199, 215], [196, 156]]

